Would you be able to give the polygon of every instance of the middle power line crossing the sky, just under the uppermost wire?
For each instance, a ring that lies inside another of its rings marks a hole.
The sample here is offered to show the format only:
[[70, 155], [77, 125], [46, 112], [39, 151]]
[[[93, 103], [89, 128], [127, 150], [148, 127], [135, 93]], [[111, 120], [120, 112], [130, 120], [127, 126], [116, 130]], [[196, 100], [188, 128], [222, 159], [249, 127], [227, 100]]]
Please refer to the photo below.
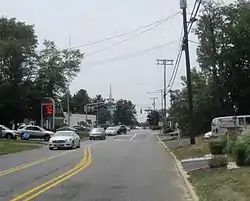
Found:
[[124, 42], [130, 41], [130, 40], [132, 40], [132, 39], [134, 39], [134, 38], [136, 38], [136, 37], [138, 37], [138, 36], [141, 36], [142, 34], [144, 34], [144, 33], [146, 33], [146, 32], [152, 31], [152, 30], [154, 30], [156, 27], [162, 25], [164, 22], [166, 22], [166, 21], [168, 21], [168, 20], [170, 20], [170, 19], [173, 19], [173, 18], [176, 17], [178, 14], [180, 14], [180, 12], [175, 13], [174, 15], [172, 15], [172, 16], [170, 16], [170, 17], [168, 17], [168, 18], [166, 18], [166, 19], [164, 19], [164, 20], [162, 20], [162, 21], [156, 23], [153, 27], [148, 28], [148, 29], [146, 29], [146, 30], [143, 30], [143, 31], [139, 32], [138, 34], [136, 34], [136, 35], [134, 35], [134, 36], [131, 36], [131, 37], [126, 38], [126, 39], [124, 39], [124, 40], [122, 40], [122, 41], [116, 42], [116, 43], [114, 43], [114, 44], [112, 44], [112, 45], [110, 45], [110, 46], [108, 46], [108, 47], [105, 47], [105, 48], [99, 49], [99, 50], [97, 50], [97, 51], [94, 51], [94, 52], [92, 52], [92, 53], [86, 54], [86, 56], [93, 56], [94, 54], [97, 54], [97, 53], [99, 53], [99, 52], [106, 51], [106, 50], [111, 49], [111, 48], [113, 48], [113, 47], [115, 47], [115, 46], [117, 46], [117, 45], [120, 45], [120, 44], [124, 43]]

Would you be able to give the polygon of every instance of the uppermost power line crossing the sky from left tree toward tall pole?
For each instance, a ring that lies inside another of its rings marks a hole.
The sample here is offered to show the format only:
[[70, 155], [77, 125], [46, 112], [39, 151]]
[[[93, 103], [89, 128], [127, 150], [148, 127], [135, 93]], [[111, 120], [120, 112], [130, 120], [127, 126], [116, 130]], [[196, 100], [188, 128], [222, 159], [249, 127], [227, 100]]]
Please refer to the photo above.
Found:
[[[180, 12], [178, 12], [179, 14]], [[131, 31], [128, 31], [128, 32], [124, 32], [124, 33], [120, 33], [120, 34], [117, 34], [117, 35], [114, 35], [114, 36], [111, 36], [111, 37], [107, 37], [107, 38], [103, 38], [101, 40], [97, 40], [97, 41], [90, 41], [90, 42], [87, 42], [86, 44], [83, 44], [83, 45], [78, 45], [78, 46], [74, 46], [74, 47], [71, 47], [71, 49], [77, 49], [77, 48], [82, 48], [82, 47], [87, 47], [87, 46], [90, 46], [90, 45], [95, 45], [95, 44], [98, 44], [98, 43], [102, 43], [102, 42], [106, 42], [106, 41], [110, 41], [110, 40], [113, 40], [115, 38], [119, 38], [119, 37], [123, 37], [123, 36], [126, 36], [126, 35], [129, 35], [129, 34], [132, 34], [132, 33], [135, 33], [141, 29], [145, 29], [145, 28], [148, 28], [150, 26], [153, 26], [157, 23], [160, 23], [160, 22], [163, 22], [165, 21], [166, 19], [168, 19], [168, 17], [164, 18], [164, 19], [161, 19], [161, 20], [157, 20], [157, 21], [154, 21], [150, 24], [147, 24], [147, 25], [144, 25], [144, 26], [141, 26], [141, 27], [138, 27], [136, 29], [133, 29]]]

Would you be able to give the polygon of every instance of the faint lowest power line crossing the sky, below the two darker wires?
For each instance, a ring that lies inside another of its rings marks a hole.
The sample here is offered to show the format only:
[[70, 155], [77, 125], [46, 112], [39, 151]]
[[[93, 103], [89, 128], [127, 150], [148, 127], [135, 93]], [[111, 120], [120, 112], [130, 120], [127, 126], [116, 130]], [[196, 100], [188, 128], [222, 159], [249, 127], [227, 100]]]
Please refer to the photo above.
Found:
[[173, 41], [170, 41], [168, 43], [165, 43], [165, 44], [162, 44], [162, 45], [153, 46], [151, 48], [147, 48], [147, 49], [144, 49], [144, 50], [141, 50], [141, 51], [137, 51], [137, 52], [133, 52], [133, 53], [126, 54], [126, 55], [121, 55], [121, 56], [113, 57], [113, 58], [110, 58], [110, 59], [107, 59], [107, 60], [103, 60], [103, 61], [93, 62], [92, 64], [90, 63], [90, 65], [91, 66], [98, 66], [98, 65], [103, 65], [103, 64], [106, 64], [106, 63], [114, 62], [114, 61], [129, 59], [131, 57], [135, 57], [135, 56], [138, 56], [138, 55], [146, 53], [146, 52], [150, 52], [150, 51], [153, 51], [153, 50], [156, 50], [156, 49], [164, 48], [164, 47], [166, 47], [168, 45], [172, 45], [173, 43], [176, 43], [176, 42], [177, 42], [177, 40], [173, 40]]

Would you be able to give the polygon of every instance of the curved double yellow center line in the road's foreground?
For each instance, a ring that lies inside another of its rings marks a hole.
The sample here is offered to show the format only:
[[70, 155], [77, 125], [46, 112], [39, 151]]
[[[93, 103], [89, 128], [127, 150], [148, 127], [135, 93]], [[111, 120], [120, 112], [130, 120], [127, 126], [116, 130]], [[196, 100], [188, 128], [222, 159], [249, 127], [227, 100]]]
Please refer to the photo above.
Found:
[[65, 180], [70, 179], [74, 175], [83, 171], [86, 167], [88, 167], [92, 163], [92, 155], [90, 148], [84, 149], [84, 157], [83, 159], [77, 164], [74, 168], [70, 169], [69, 171], [49, 180], [45, 183], [42, 183], [35, 188], [32, 188], [25, 193], [11, 199], [11, 201], [29, 201], [34, 199], [35, 197], [39, 196], [40, 194], [48, 191], [49, 189], [55, 187], [56, 185], [64, 182]]

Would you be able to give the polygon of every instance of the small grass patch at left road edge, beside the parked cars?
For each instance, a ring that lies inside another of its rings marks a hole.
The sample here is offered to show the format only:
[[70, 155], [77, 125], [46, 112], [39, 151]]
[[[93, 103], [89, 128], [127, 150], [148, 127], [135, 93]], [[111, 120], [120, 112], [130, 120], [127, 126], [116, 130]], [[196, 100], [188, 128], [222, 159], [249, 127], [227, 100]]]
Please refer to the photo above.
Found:
[[39, 145], [23, 143], [14, 140], [0, 140], [0, 155], [36, 149], [39, 147]]

